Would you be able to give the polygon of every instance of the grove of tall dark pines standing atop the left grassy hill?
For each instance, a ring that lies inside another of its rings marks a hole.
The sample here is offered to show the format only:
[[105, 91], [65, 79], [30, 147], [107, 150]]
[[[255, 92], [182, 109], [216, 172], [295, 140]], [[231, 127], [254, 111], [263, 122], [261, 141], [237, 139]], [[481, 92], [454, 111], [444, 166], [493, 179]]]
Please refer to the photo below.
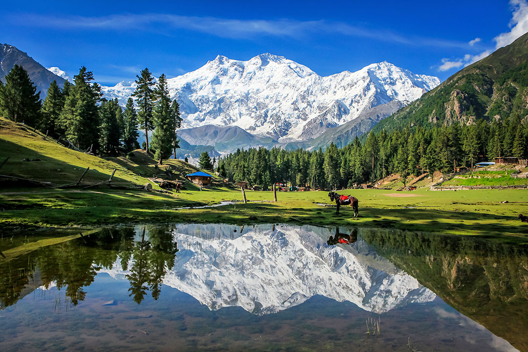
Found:
[[5, 83], [0, 81], [0, 115], [92, 154], [118, 155], [139, 148], [139, 129], [145, 133], [147, 151], [148, 131], [153, 131], [150, 150], [160, 164], [178, 148], [180, 107], [169, 97], [164, 74], [156, 83], [148, 69], [142, 70], [134, 99], [128, 99], [124, 110], [117, 99], [102, 98], [100, 85], [92, 81], [93, 73], [82, 66], [74, 83], [65, 81], [61, 88], [51, 82], [42, 102], [27, 72], [15, 64]]

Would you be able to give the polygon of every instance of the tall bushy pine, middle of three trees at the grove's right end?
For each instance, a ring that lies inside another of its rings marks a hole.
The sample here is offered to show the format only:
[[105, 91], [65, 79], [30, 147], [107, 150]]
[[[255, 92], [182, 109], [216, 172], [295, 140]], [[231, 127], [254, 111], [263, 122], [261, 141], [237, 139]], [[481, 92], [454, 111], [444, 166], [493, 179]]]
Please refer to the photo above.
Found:
[[176, 140], [175, 118], [171, 109], [171, 98], [168, 96], [167, 79], [162, 74], [154, 90], [156, 102], [153, 111], [154, 133], [152, 135], [152, 149], [158, 164], [171, 155]]

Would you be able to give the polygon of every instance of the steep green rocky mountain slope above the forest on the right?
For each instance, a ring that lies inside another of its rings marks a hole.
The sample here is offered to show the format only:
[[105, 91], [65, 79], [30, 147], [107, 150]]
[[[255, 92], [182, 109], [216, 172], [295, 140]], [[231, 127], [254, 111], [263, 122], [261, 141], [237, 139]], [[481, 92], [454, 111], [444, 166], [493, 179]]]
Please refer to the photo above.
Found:
[[528, 116], [528, 33], [449, 77], [374, 130]]

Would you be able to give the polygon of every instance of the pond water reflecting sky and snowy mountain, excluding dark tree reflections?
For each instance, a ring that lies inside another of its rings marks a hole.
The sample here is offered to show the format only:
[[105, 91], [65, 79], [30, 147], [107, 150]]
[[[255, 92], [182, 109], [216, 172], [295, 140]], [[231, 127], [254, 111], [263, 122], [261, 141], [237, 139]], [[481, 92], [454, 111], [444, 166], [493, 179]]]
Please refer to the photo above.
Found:
[[[136, 242], [149, 239], [142, 229]], [[378, 255], [361, 231], [337, 246], [326, 244], [335, 229], [312, 226], [152, 231], [174, 233], [179, 249], [157, 300], [130, 297], [136, 258], [123, 270], [119, 257], [76, 307], [52, 283], [0, 310], [0, 350], [515, 350]], [[366, 335], [365, 321], [378, 318], [381, 335]]]

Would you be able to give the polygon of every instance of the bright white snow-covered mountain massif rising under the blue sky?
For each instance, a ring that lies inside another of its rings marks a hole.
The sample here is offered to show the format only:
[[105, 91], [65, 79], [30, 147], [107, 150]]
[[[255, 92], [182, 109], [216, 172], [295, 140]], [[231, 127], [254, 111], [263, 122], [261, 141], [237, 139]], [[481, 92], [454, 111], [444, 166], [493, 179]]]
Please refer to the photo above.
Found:
[[[265, 53], [248, 61], [219, 55], [167, 82], [180, 103], [183, 128], [238, 126], [287, 142], [315, 138], [380, 104], [409, 103], [440, 80], [386, 61], [321, 77], [295, 61]], [[121, 82], [103, 91], [123, 104], [133, 84]]]

